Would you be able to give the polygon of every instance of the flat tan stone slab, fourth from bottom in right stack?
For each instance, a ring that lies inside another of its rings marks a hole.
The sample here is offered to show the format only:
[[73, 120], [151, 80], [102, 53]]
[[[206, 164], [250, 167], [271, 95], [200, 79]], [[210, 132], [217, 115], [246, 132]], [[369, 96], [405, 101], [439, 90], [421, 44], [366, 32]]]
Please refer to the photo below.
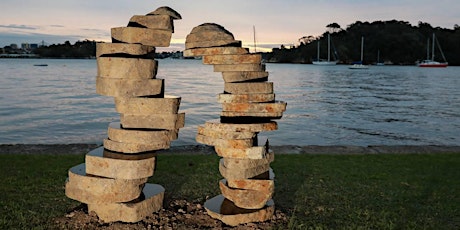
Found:
[[248, 179], [260, 175], [270, 169], [270, 164], [258, 165], [253, 168], [227, 168], [224, 165], [224, 159], [220, 160], [219, 172], [228, 180], [233, 179]]

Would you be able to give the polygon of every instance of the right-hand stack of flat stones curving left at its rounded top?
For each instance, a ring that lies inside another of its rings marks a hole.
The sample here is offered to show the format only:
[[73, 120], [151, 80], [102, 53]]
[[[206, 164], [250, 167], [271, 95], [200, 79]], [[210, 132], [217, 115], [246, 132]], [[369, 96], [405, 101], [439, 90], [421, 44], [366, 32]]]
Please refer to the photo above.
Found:
[[205, 202], [208, 214], [228, 225], [263, 222], [274, 213], [274, 152], [258, 134], [277, 129], [286, 103], [275, 100], [273, 82], [260, 54], [250, 54], [241, 41], [220, 25], [205, 23], [187, 36], [184, 56], [202, 56], [204, 64], [222, 72], [224, 93], [220, 120], [198, 127], [196, 140], [214, 146], [222, 157], [222, 192]]

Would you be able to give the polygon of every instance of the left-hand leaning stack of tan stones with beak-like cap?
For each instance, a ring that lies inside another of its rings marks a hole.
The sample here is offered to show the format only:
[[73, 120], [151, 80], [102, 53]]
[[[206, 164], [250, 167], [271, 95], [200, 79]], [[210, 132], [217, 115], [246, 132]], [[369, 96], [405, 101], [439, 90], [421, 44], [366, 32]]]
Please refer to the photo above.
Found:
[[180, 97], [164, 94], [154, 54], [170, 45], [175, 19], [176, 11], [160, 7], [112, 28], [112, 43], [97, 44], [96, 91], [115, 98], [120, 122], [109, 124], [103, 147], [69, 170], [65, 192], [104, 222], [137, 222], [162, 208], [164, 188], [146, 182], [155, 151], [177, 139], [185, 114], [178, 113]]

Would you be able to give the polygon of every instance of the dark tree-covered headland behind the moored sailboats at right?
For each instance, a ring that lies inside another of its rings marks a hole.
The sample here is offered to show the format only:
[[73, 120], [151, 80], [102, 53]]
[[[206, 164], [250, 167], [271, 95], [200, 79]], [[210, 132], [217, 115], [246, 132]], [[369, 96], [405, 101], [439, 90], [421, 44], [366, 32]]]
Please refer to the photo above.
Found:
[[[275, 48], [264, 53], [268, 62], [311, 63], [317, 57], [317, 42], [320, 41], [321, 57], [327, 57], [327, 35], [330, 34], [332, 49], [336, 51], [340, 63], [359, 61], [361, 56], [361, 37], [364, 37], [364, 63], [376, 63], [377, 59], [396, 65], [413, 65], [427, 58], [427, 40], [436, 34], [439, 45], [449, 65], [460, 65], [460, 26], [454, 29], [432, 27], [425, 22], [412, 26], [406, 21], [357, 21], [346, 29], [337, 23], [326, 26], [321, 36], [299, 38], [300, 45], [293, 48]], [[431, 42], [429, 43], [431, 46]], [[431, 48], [430, 48], [431, 52]], [[378, 54], [379, 57], [378, 57]], [[332, 54], [331, 54], [332, 56]], [[442, 60], [439, 49], [435, 59]], [[430, 54], [431, 57], [431, 54]]]

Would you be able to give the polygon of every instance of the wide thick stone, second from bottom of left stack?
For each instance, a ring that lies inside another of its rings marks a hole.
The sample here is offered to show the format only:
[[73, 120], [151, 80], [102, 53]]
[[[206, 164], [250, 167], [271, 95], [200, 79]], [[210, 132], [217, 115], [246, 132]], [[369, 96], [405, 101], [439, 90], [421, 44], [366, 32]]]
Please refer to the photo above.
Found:
[[122, 180], [87, 175], [85, 168], [84, 163], [70, 168], [65, 184], [66, 196], [85, 204], [134, 200], [147, 182], [147, 178]]

